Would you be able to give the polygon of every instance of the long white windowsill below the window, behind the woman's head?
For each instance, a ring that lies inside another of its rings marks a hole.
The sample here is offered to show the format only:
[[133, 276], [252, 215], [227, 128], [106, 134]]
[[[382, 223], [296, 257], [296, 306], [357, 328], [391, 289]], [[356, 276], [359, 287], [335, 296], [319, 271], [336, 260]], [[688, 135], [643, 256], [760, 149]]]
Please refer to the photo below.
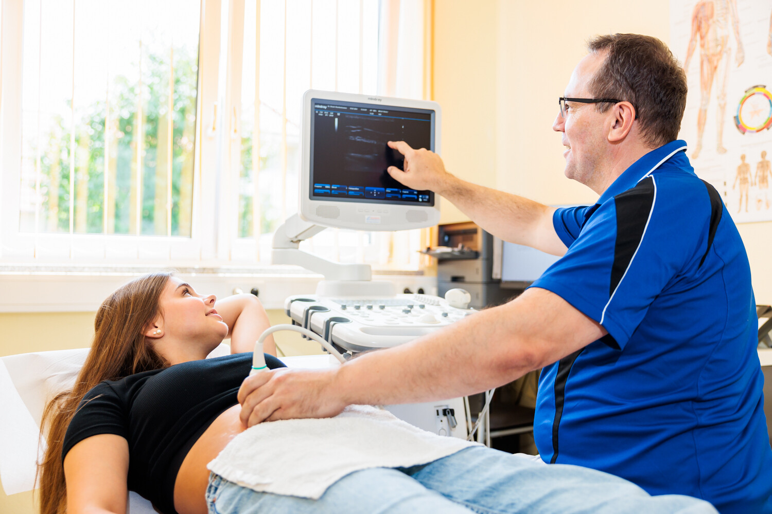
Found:
[[[93, 312], [130, 277], [171, 269], [202, 293], [227, 297], [259, 291], [266, 309], [281, 309], [286, 297], [316, 291], [320, 274], [296, 266], [132, 266], [73, 264], [0, 264], [0, 313]], [[436, 291], [436, 277], [422, 270], [373, 270], [374, 280], [394, 282], [398, 292], [422, 287]]]

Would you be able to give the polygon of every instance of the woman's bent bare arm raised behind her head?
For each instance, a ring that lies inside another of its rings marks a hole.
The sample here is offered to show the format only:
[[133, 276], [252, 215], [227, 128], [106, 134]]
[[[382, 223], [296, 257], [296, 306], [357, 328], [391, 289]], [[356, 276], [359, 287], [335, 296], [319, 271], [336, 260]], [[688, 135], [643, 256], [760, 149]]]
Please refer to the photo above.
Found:
[[[217, 314], [228, 325], [228, 335], [231, 338], [231, 353], [255, 349], [255, 341], [266, 328], [271, 326], [268, 314], [262, 303], [254, 294], [234, 294], [215, 303]], [[276, 344], [273, 335], [269, 335], [263, 349], [266, 354], [276, 355]]]

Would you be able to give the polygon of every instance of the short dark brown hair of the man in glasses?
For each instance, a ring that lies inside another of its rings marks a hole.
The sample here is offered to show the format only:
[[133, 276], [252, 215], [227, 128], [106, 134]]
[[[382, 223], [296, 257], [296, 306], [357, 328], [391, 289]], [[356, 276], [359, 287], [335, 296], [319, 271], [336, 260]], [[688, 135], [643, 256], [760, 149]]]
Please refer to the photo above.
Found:
[[[678, 139], [686, 108], [686, 72], [665, 43], [650, 35], [598, 35], [587, 42], [587, 50], [607, 54], [590, 81], [592, 96], [630, 102], [648, 146]], [[595, 105], [604, 113], [613, 104]]]

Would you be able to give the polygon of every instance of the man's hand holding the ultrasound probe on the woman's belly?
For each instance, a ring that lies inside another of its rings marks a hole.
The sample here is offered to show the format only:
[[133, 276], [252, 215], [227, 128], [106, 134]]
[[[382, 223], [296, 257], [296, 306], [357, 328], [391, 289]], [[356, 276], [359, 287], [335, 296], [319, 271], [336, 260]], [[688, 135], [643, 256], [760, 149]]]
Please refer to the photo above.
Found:
[[279, 368], [245, 378], [238, 396], [242, 425], [340, 414], [348, 403], [334, 387], [336, 371]]

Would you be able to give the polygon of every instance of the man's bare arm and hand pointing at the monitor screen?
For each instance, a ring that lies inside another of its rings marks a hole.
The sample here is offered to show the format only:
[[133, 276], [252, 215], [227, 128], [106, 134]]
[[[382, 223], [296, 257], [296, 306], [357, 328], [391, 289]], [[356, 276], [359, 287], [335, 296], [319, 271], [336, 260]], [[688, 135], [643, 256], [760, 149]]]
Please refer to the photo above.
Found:
[[563, 255], [566, 245], [552, 224], [554, 207], [461, 180], [445, 171], [442, 159], [427, 149], [412, 149], [404, 141], [389, 142], [405, 156], [405, 170], [388, 173], [415, 190], [442, 195], [484, 230], [511, 243], [525, 244], [548, 254]]

